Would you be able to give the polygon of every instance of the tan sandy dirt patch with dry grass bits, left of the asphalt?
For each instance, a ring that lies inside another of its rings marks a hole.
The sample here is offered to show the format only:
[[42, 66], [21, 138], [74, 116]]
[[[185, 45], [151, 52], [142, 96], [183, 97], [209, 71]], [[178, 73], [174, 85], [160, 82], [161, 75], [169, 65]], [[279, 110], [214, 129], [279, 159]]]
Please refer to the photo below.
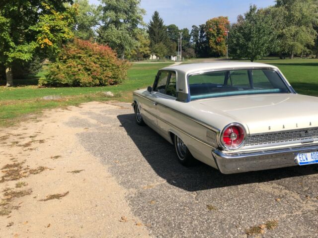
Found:
[[[149, 237], [128, 206], [127, 190], [79, 145], [76, 134], [85, 126], [68, 125], [85, 119], [83, 112], [115, 107], [46, 110], [36, 119], [43, 125], [28, 120], [1, 128], [0, 237]], [[127, 222], [118, 222], [123, 214]]]

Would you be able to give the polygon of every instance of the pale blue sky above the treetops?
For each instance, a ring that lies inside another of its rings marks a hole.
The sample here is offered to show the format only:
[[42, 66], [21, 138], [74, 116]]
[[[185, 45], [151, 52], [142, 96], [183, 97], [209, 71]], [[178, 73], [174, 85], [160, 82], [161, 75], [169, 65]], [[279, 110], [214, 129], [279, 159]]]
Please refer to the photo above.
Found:
[[[98, 4], [98, 0], [89, 0]], [[274, 0], [141, 0], [141, 7], [147, 13], [144, 21], [149, 23], [154, 11], [158, 11], [165, 25], [175, 24], [179, 28], [200, 25], [208, 19], [217, 16], [228, 16], [231, 23], [237, 21], [237, 16], [243, 14], [249, 5], [257, 7], [274, 5]]]

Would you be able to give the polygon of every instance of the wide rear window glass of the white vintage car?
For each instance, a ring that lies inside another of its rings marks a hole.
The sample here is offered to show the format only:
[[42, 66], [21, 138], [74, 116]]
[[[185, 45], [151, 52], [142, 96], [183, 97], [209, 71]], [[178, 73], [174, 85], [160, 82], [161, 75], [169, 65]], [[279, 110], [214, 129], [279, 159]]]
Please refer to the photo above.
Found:
[[290, 93], [275, 70], [238, 69], [190, 75], [191, 100], [244, 94]]

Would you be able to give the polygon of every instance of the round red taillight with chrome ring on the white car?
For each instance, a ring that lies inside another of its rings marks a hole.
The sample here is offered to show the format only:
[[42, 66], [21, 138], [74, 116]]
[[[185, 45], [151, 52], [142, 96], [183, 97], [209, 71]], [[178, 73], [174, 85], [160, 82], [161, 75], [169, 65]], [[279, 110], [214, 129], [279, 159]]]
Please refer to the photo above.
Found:
[[239, 148], [245, 139], [245, 130], [240, 124], [230, 124], [224, 128], [221, 141], [229, 149]]

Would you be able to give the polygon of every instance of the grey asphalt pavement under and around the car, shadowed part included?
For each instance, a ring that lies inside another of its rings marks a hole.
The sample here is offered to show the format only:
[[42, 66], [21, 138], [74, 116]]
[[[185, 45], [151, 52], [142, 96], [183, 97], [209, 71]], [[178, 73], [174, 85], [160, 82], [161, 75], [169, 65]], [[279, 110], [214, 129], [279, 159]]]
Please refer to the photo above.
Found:
[[[277, 221], [262, 234], [275, 238], [318, 237], [318, 167], [223, 175], [199, 163], [181, 166], [174, 148], [148, 126], [138, 126], [129, 104], [83, 111], [96, 123], [78, 138], [127, 189], [134, 215], [163, 238], [249, 237], [246, 230]], [[258, 229], [259, 230], [259, 229]]]

